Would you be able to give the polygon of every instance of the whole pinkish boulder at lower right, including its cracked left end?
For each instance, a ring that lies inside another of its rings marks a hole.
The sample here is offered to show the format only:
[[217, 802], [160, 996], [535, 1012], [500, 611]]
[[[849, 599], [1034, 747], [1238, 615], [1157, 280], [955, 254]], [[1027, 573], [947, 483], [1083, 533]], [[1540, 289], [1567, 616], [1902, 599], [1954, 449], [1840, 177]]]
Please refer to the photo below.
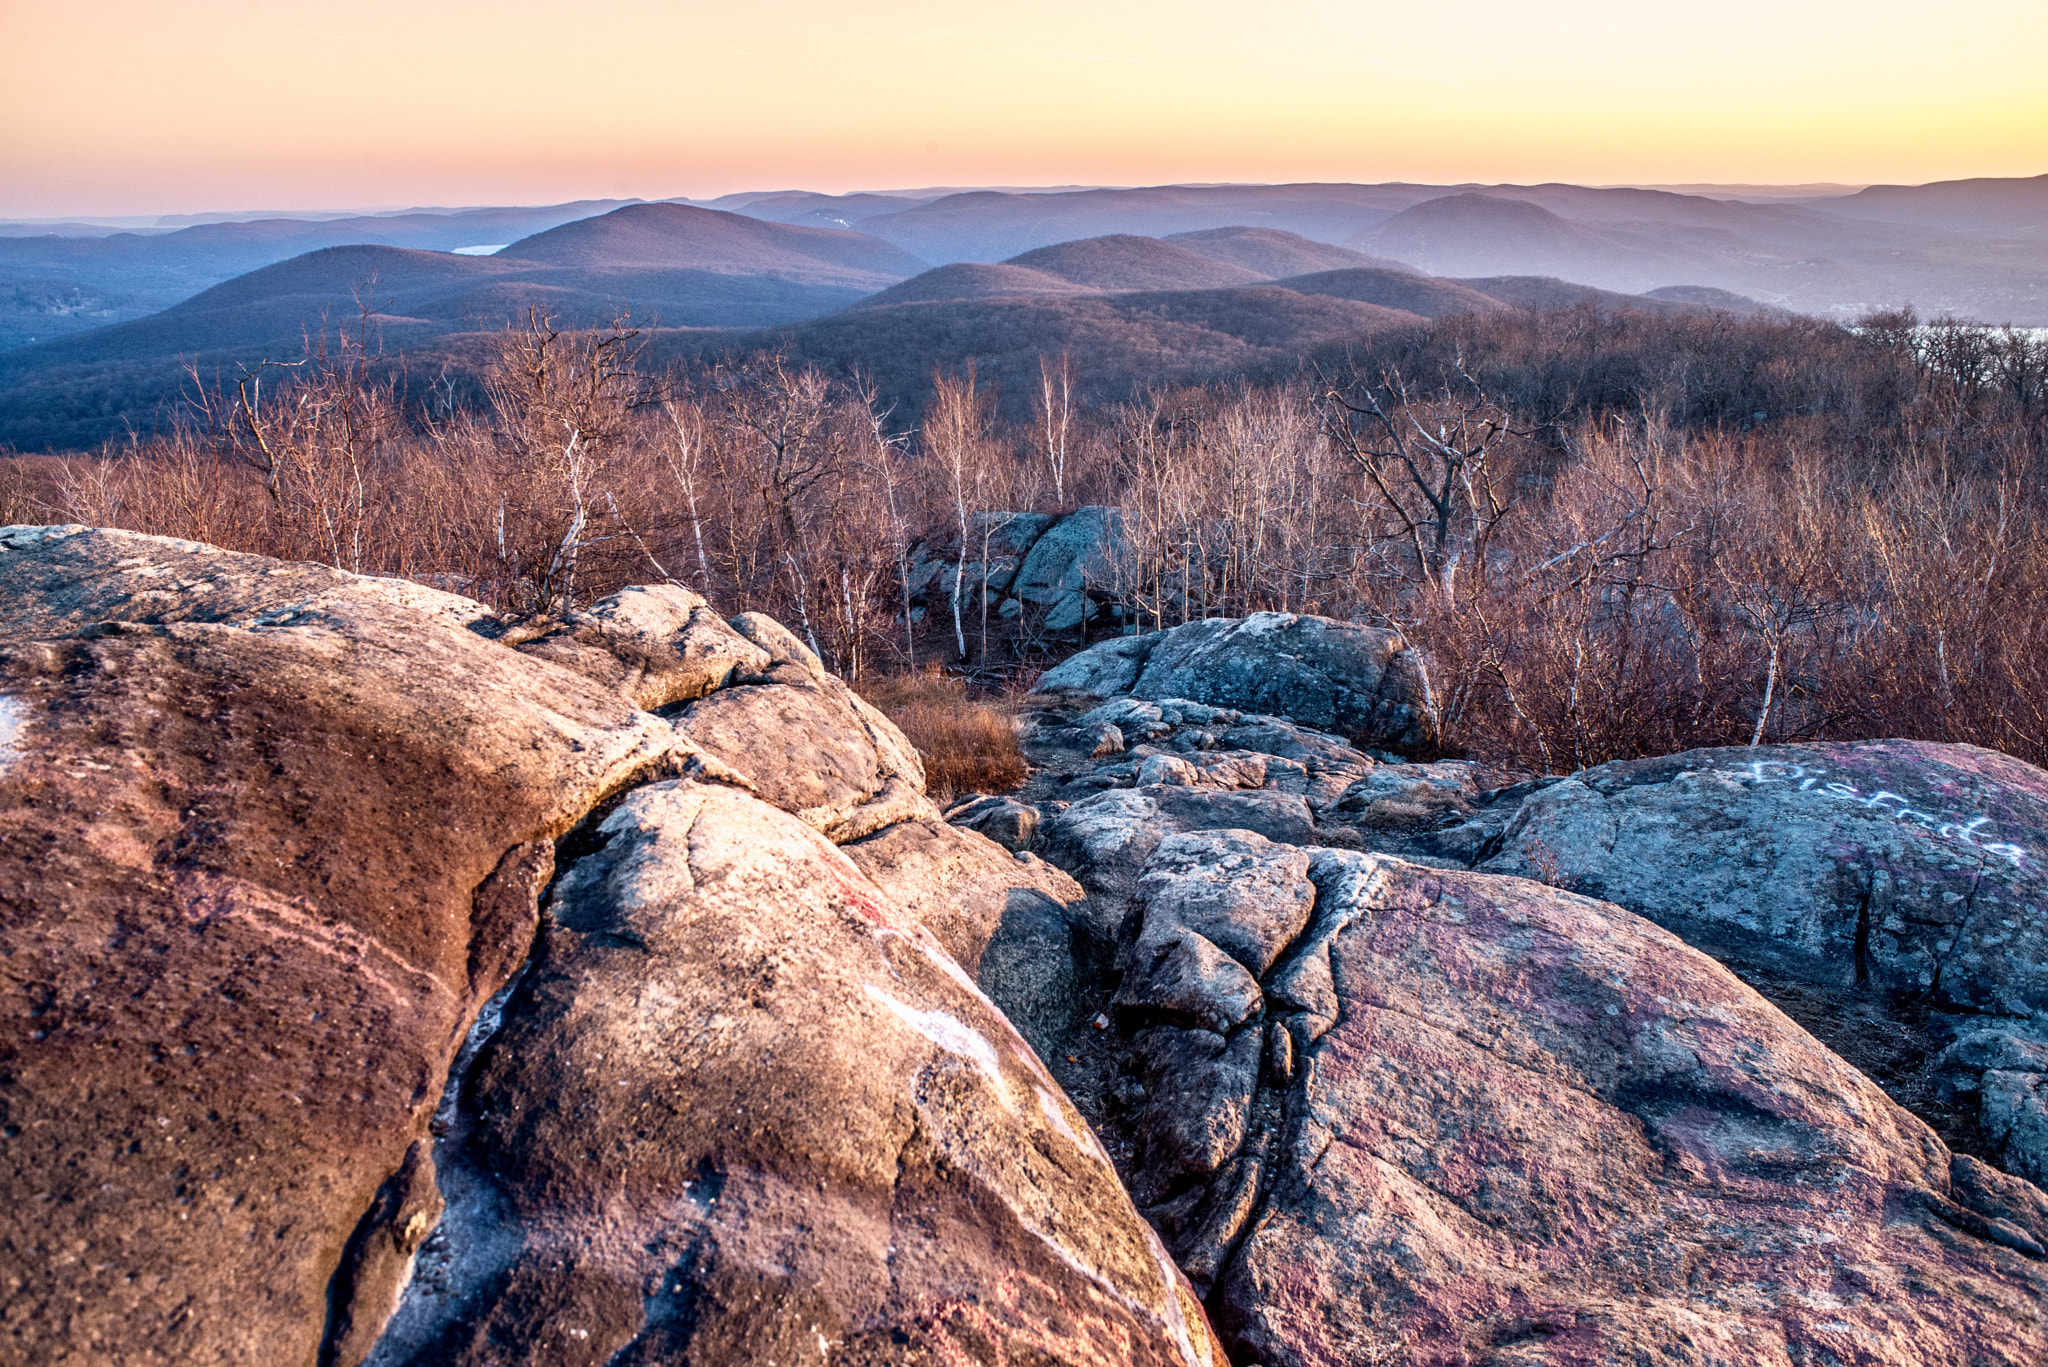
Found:
[[1069, 1068], [1237, 1361], [2048, 1353], [2048, 1197], [1642, 918], [1249, 832], [1135, 898]]

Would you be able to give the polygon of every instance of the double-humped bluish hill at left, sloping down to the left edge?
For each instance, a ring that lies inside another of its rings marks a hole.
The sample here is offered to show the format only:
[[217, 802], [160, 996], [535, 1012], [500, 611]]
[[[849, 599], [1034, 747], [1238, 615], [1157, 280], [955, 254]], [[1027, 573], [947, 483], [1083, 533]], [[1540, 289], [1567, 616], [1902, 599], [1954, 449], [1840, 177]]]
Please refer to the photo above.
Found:
[[0, 353], [0, 443], [80, 447], [150, 426], [188, 365], [233, 375], [299, 357], [309, 334], [352, 324], [358, 299], [387, 350], [414, 353], [500, 328], [528, 305], [567, 326], [629, 312], [641, 326], [764, 328], [844, 309], [922, 264], [858, 234], [686, 205], [629, 205], [514, 248], [522, 254], [324, 248], [147, 318]]

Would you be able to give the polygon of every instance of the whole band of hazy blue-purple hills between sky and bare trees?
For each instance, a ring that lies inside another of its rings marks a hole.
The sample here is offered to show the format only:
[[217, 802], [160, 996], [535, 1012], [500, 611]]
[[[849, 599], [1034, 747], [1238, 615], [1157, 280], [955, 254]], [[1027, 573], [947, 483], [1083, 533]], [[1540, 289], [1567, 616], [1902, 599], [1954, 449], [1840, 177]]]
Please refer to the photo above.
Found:
[[1282, 365], [1415, 316], [1583, 301], [1837, 322], [1911, 303], [2048, 326], [2048, 176], [1825, 195], [784, 191], [162, 232], [0, 223], [0, 441], [150, 428], [184, 369], [289, 359], [365, 305], [387, 353], [426, 365], [541, 307], [582, 326], [631, 316], [664, 355], [786, 344], [897, 389], [967, 357], [1001, 371], [1079, 350], [1108, 391]]

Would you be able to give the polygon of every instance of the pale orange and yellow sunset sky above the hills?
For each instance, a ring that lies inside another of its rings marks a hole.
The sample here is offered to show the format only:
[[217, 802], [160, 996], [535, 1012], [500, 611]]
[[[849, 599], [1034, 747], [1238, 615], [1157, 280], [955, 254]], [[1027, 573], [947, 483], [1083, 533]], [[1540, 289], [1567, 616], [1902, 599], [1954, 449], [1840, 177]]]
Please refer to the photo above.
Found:
[[0, 215], [2048, 172], [2048, 0], [0, 0]]

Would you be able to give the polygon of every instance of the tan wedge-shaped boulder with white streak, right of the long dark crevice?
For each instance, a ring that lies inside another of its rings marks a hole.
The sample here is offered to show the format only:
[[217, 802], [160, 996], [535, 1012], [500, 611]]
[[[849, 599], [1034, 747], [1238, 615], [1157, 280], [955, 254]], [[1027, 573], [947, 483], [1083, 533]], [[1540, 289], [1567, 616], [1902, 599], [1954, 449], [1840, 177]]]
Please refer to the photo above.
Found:
[[375, 1363], [1221, 1367], [1036, 1055], [840, 851], [688, 781], [596, 840]]

